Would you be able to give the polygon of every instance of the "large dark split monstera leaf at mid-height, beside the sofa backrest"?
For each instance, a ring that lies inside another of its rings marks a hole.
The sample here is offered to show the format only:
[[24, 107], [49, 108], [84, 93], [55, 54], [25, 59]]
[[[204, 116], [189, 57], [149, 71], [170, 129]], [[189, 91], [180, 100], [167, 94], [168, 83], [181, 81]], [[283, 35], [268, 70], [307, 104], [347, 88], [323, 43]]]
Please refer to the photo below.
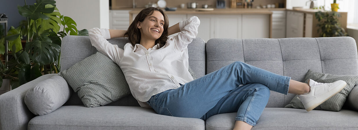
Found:
[[47, 35], [49, 30], [45, 30], [37, 39], [26, 43], [26, 50], [29, 51], [29, 57], [34, 63], [39, 65], [48, 65], [55, 62], [60, 53], [60, 46], [53, 44]]

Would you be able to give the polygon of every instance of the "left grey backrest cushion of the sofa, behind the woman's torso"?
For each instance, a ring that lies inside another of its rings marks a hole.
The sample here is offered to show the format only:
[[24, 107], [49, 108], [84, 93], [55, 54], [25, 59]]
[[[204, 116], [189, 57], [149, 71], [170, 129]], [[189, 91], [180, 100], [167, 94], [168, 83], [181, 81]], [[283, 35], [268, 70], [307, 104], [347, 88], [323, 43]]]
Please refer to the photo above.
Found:
[[[129, 43], [127, 38], [108, 39], [111, 44], [124, 48]], [[78, 61], [95, 54], [97, 49], [91, 45], [88, 36], [65, 36], [61, 43], [61, 71], [68, 69]], [[199, 78], [205, 75], [205, 42], [201, 38], [194, 39], [188, 45], [189, 66]], [[83, 105], [77, 92], [73, 92], [71, 98], [64, 105]], [[130, 94], [120, 100], [107, 105], [116, 106], [139, 106], [138, 102]]]

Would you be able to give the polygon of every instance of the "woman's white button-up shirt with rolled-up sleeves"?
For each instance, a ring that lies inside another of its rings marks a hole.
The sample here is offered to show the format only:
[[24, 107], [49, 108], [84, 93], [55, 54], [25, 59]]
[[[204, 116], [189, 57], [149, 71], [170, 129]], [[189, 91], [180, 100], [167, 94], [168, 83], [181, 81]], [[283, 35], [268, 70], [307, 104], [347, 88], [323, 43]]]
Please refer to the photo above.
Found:
[[196, 38], [200, 20], [196, 16], [180, 21], [180, 33], [170, 36], [162, 48], [159, 44], [148, 50], [140, 44], [127, 43], [124, 49], [112, 45], [108, 29], [88, 30], [92, 46], [119, 65], [132, 95], [141, 107], [160, 92], [176, 89], [193, 80], [188, 71], [188, 44]]

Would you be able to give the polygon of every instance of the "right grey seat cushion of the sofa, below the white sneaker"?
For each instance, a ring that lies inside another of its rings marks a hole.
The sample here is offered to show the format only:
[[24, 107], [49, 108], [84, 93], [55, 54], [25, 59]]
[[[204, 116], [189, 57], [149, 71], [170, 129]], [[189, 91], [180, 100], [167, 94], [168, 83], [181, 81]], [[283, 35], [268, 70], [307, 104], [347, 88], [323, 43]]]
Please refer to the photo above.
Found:
[[[218, 114], [206, 120], [206, 130], [232, 130], [236, 112]], [[357, 130], [358, 112], [293, 108], [265, 108], [252, 130]]]

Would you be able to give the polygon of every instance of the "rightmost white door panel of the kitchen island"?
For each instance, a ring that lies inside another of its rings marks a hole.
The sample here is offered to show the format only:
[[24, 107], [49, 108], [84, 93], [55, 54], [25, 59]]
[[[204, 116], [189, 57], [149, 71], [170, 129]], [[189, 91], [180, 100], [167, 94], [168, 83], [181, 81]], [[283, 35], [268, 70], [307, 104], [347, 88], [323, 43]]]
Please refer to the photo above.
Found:
[[270, 38], [270, 15], [243, 14], [242, 38]]

